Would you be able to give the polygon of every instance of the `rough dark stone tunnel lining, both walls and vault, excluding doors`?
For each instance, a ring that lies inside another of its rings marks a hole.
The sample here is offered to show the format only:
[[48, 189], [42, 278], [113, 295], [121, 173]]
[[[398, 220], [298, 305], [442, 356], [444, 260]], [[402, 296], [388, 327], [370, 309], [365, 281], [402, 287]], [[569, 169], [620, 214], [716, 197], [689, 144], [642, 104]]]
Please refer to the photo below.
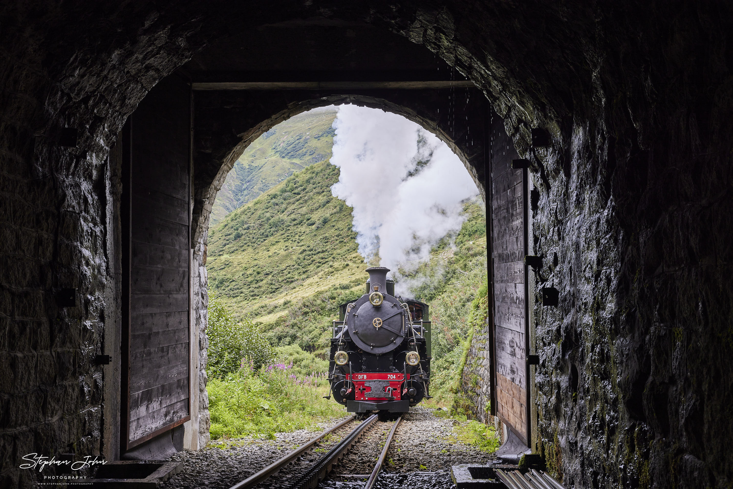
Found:
[[[733, 377], [733, 109], [721, 34], [732, 30], [729, 6], [206, 8], [34, 1], [2, 10], [2, 198], [11, 210], [3, 215], [1, 350], [10, 368], [0, 430], [8, 458], [100, 451], [114, 415], [100, 401], [100, 379], [114, 371], [94, 359], [119, 315], [119, 270], [109, 258], [117, 256], [108, 221], [114, 178], [104, 161], [144, 95], [239, 19], [244, 30], [320, 22], [397, 32], [485, 90], [520, 155], [529, 155], [532, 128], [549, 130], [552, 147], [532, 169], [535, 246], [560, 301], [537, 309], [539, 452], [584, 487], [712, 487], [733, 478], [733, 401], [721, 389]], [[69, 287], [83, 306], [57, 304]], [[563, 397], [567, 379], [554, 372], [571, 353], [578, 402]], [[52, 364], [53, 378], [38, 367]], [[10, 460], [0, 477], [22, 485], [31, 476]]]

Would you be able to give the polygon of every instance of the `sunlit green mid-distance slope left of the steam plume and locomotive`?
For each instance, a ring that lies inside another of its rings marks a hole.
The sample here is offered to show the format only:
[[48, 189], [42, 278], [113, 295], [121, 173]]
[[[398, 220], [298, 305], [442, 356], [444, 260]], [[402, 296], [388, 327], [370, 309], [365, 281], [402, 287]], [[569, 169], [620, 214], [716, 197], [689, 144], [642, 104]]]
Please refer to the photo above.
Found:
[[273, 345], [320, 350], [338, 304], [361, 295], [366, 265], [352, 209], [331, 195], [338, 180], [336, 166], [316, 163], [210, 231], [210, 289], [235, 317], [262, 323]]

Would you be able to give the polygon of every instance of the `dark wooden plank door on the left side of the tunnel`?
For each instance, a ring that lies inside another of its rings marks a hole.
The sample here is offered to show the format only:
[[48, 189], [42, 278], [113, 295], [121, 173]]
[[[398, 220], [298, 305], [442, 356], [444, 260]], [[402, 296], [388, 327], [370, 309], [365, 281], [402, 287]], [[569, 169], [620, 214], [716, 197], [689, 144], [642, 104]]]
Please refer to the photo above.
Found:
[[164, 78], [130, 116], [123, 449], [191, 417], [190, 94], [182, 79]]

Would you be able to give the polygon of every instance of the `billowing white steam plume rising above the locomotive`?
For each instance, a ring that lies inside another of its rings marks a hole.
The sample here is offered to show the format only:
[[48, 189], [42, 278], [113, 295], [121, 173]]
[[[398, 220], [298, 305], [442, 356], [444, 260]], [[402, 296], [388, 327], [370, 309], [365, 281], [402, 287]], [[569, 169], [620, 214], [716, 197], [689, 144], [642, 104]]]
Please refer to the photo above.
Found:
[[[331, 163], [341, 170], [334, 196], [353, 207], [359, 253], [398, 266], [425, 260], [465, 218], [465, 199], [479, 194], [443, 141], [405, 117], [339, 106]], [[409, 267], [412, 268], [412, 267]]]

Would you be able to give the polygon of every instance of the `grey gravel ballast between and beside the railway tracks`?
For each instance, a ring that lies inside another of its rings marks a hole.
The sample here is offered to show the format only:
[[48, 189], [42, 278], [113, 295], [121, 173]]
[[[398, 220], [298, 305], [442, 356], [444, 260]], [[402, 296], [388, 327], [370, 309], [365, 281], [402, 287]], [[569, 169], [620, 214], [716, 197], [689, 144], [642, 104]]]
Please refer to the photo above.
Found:
[[[183, 471], [160, 487], [161, 489], [229, 489], [337, 422], [338, 420], [321, 424], [317, 431], [277, 433], [274, 440], [239, 438], [229, 440], [225, 448], [209, 446], [199, 452], [180, 452], [171, 460], [183, 460]], [[420, 406], [410, 408], [410, 412], [403, 416], [402, 422], [397, 427], [383, 471], [395, 474], [394, 477], [399, 474], [436, 472], [438, 474], [435, 474], [435, 477], [445, 479], [444, 474], [452, 465], [485, 464], [495, 459], [492, 454], [452, 440], [455, 423], [452, 419], [435, 416], [432, 409]], [[358, 444], [345, 455], [341, 463], [334, 467], [334, 471], [331, 472], [334, 474], [334, 481], [338, 479], [338, 474], [370, 474], [392, 424], [393, 422], [375, 422]], [[283, 468], [279, 474], [256, 487], [262, 489], [287, 487], [287, 482], [292, 477], [305, 471], [310, 463], [325, 455], [328, 449], [357, 425], [358, 422], [355, 421], [336, 430], [324, 441], [316, 444], [315, 450], [307, 452], [295, 463]]]

